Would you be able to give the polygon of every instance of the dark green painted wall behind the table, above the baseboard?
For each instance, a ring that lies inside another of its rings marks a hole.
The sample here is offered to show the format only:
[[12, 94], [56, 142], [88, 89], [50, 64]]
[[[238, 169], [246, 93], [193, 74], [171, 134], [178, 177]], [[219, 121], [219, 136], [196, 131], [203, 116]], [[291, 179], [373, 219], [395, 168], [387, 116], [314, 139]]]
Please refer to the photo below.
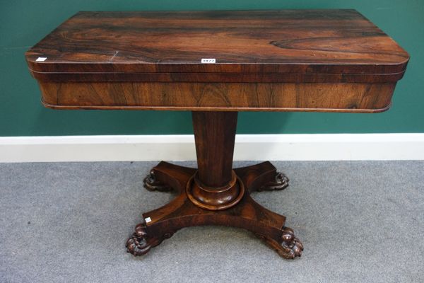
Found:
[[423, 0], [0, 0], [0, 136], [189, 134], [190, 112], [49, 110], [24, 52], [77, 11], [355, 8], [411, 54], [391, 110], [380, 114], [242, 112], [237, 132], [424, 132]]

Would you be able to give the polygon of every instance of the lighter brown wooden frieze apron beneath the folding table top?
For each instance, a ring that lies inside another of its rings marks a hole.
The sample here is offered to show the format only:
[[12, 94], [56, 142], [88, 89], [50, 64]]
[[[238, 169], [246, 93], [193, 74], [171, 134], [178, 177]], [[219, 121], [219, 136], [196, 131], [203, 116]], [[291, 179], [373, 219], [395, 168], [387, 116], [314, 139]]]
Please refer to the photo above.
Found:
[[382, 112], [395, 83], [40, 83], [55, 109]]

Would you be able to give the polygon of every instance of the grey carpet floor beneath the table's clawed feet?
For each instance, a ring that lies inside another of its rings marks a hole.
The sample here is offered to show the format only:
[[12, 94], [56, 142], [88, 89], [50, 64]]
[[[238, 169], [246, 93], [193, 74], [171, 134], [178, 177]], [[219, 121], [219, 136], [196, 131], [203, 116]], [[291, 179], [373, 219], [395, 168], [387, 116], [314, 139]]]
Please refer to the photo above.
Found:
[[424, 282], [423, 161], [274, 162], [290, 186], [253, 197], [287, 216], [296, 260], [219, 226], [126, 253], [172, 199], [143, 188], [155, 163], [0, 163], [0, 282]]

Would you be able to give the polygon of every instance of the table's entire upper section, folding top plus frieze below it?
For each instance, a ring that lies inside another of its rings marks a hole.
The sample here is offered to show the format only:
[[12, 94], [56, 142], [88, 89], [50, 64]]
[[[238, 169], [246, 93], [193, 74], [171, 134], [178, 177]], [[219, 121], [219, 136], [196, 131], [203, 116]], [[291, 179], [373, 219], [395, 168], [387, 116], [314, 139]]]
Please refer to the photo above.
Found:
[[408, 58], [355, 10], [80, 12], [26, 53], [50, 108], [207, 111], [381, 112]]

